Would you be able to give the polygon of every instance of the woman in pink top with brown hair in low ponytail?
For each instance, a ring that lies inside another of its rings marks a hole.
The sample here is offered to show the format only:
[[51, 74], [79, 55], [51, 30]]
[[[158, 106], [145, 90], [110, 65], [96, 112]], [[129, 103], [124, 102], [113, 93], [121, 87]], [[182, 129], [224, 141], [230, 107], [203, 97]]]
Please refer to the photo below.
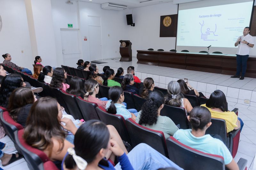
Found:
[[[84, 95], [84, 100], [97, 103], [99, 107], [101, 106], [106, 109], [106, 104], [108, 101], [102, 101], [96, 97], [96, 94], [99, 93], [99, 84], [96, 80], [89, 79], [85, 81], [84, 88], [86, 92]], [[106, 99], [106, 97], [104, 97], [104, 99]]]

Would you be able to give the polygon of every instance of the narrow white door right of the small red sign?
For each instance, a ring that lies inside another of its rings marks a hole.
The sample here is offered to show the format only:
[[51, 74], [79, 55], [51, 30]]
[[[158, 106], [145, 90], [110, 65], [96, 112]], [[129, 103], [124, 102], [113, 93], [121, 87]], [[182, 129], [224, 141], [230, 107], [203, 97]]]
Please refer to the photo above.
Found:
[[101, 27], [89, 26], [89, 43], [91, 60], [102, 60], [101, 56]]

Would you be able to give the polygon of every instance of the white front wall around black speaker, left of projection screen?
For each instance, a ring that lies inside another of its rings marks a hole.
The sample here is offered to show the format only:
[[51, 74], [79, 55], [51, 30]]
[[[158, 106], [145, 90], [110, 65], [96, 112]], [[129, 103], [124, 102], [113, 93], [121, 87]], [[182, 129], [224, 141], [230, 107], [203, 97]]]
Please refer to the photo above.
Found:
[[[125, 25], [124, 33], [132, 42], [132, 56], [137, 56], [137, 50], [149, 48], [171, 50], [175, 49], [175, 37], [159, 37], [160, 16], [177, 14], [178, 5], [163, 3], [123, 11], [120, 24]], [[127, 25], [126, 14], [132, 14], [135, 27]]]

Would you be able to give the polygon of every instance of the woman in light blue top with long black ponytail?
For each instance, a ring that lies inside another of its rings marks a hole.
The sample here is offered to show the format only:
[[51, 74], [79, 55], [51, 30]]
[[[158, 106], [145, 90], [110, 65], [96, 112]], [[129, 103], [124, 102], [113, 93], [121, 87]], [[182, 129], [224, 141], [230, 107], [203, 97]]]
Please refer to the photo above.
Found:
[[[126, 109], [126, 106], [122, 104], [124, 102], [124, 92], [121, 87], [114, 86], [108, 91], [108, 97], [112, 101], [108, 101], [106, 104], [106, 110], [111, 114], [119, 114], [124, 117], [124, 119], [132, 118], [136, 119], [138, 114], [136, 109]], [[135, 114], [133, 114], [133, 113]]]

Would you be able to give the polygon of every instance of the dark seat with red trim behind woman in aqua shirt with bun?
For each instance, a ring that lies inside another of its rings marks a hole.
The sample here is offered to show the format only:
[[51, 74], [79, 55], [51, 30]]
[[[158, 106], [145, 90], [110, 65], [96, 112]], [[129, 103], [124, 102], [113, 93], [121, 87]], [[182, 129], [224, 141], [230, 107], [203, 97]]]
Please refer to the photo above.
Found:
[[[183, 169], [225, 170], [224, 158], [220, 155], [198, 151], [180, 143], [172, 136], [166, 140], [166, 144], [170, 160]], [[240, 170], [244, 170], [246, 169], [247, 160], [240, 158], [237, 164]]]

